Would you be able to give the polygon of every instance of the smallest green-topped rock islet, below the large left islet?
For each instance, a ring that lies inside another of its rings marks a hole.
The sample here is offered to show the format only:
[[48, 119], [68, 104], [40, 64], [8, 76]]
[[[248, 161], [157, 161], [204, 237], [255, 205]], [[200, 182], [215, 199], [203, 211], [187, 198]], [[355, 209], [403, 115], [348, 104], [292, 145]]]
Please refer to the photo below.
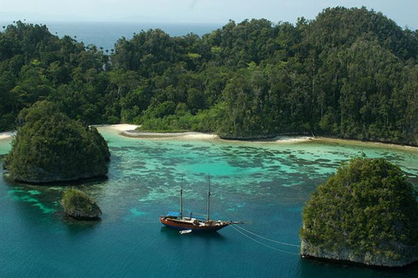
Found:
[[66, 215], [75, 219], [99, 219], [102, 215], [102, 210], [95, 200], [81, 190], [73, 188], [65, 190], [61, 206], [63, 206]]

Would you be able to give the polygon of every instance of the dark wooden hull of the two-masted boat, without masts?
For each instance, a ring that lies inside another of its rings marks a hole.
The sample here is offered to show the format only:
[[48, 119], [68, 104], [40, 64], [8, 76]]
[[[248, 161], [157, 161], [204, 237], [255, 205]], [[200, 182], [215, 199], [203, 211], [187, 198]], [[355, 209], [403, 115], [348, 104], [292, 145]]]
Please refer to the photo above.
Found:
[[192, 224], [190, 222], [164, 216], [160, 217], [160, 222], [171, 229], [179, 231], [192, 230], [193, 232], [215, 232], [231, 224], [231, 222], [210, 222], [205, 225]]

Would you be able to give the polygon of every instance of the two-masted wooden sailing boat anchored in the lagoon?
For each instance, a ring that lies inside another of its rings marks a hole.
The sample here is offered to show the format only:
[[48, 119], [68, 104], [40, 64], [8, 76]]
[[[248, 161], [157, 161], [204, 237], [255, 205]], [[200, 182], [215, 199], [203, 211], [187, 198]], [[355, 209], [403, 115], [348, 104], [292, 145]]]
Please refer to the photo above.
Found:
[[238, 224], [239, 222], [223, 221], [223, 220], [211, 220], [209, 218], [210, 213], [210, 176], [209, 191], [208, 191], [208, 203], [207, 203], [207, 215], [206, 219], [198, 219], [192, 217], [190, 213], [189, 217], [185, 217], [183, 214], [183, 179], [180, 189], [180, 212], [168, 212], [167, 215], [160, 217], [160, 222], [171, 229], [177, 229], [181, 231], [192, 230], [194, 232], [213, 232], [218, 231], [230, 224]]

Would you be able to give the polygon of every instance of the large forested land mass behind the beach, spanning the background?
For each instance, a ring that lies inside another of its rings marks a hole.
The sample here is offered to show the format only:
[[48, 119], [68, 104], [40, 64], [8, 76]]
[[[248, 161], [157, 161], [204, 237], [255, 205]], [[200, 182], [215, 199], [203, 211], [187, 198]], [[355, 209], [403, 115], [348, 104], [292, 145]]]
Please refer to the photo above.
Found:
[[417, 146], [417, 56], [417, 31], [366, 8], [231, 20], [202, 37], [140, 31], [110, 52], [16, 22], [0, 33], [0, 130], [49, 100], [86, 125]]

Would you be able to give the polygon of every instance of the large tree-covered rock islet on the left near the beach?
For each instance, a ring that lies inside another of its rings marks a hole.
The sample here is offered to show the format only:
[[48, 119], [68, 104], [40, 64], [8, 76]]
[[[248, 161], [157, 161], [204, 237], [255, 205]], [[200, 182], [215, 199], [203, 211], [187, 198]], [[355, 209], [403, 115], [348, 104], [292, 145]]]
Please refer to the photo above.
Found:
[[17, 118], [19, 128], [4, 166], [14, 180], [51, 183], [105, 176], [107, 142], [95, 128], [63, 114], [52, 102], [36, 102]]

